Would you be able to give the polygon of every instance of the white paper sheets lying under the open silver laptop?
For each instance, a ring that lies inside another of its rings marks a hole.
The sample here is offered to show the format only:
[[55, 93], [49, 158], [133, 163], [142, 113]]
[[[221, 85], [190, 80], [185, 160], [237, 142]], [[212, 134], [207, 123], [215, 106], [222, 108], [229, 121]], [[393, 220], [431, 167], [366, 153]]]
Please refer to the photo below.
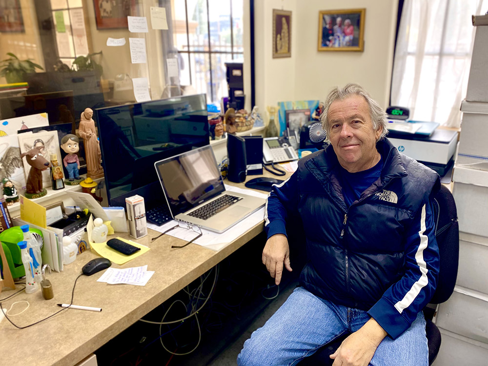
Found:
[[[230, 192], [240, 192], [250, 196], [261, 197], [264, 199], [266, 199], [267, 197], [267, 194], [259, 193], [251, 189], [243, 189], [243, 188], [238, 188], [230, 185], [225, 185], [225, 189]], [[216, 250], [216, 251], [220, 250], [224, 248], [224, 246], [226, 246], [227, 244], [229, 244], [230, 242], [232, 242], [233, 240], [235, 240], [236, 238], [244, 234], [247, 230], [262, 222], [263, 219], [264, 219], [264, 207], [260, 208], [252, 215], [246, 217], [244, 220], [235, 224], [228, 230], [225, 230], [221, 234], [202, 229], [203, 235], [197, 240], [195, 240], [193, 243], [202, 245], [212, 250]], [[177, 221], [172, 220], [161, 226], [148, 223], [147, 227], [162, 233], [167, 229], [169, 229], [170, 227], [173, 227], [177, 224], [178, 224]], [[192, 230], [187, 230], [183, 228], [176, 228], [174, 230], [171, 230], [170, 232], [167, 233], [167, 235], [171, 235], [175, 238], [182, 239], [187, 242], [192, 240], [196, 236], [195, 232], [193, 232]]]

